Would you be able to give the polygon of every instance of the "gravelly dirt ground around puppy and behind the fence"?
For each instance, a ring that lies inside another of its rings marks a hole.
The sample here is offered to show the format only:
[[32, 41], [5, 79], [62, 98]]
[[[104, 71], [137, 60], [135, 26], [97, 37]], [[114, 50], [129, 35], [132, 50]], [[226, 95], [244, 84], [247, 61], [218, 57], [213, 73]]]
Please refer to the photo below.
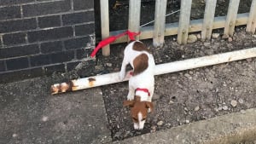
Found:
[[[200, 19], [203, 17], [201, 11], [205, 3], [203, 0], [194, 2], [191, 19]], [[168, 5], [167, 14], [179, 9], [178, 1], [168, 3], [171, 4]], [[215, 15], [226, 14], [228, 3], [227, 0], [219, 0]], [[248, 12], [251, 3], [251, 0], [243, 1], [238, 13]], [[112, 31], [127, 28], [127, 22], [124, 21], [127, 21], [125, 17], [128, 17], [128, 9], [128, 5], [124, 3], [117, 9], [110, 10], [110, 22], [114, 21], [110, 26]], [[143, 3], [141, 24], [153, 19], [154, 4]], [[166, 17], [167, 22], [177, 20], [178, 14]], [[176, 37], [166, 37], [166, 43], [160, 49], [152, 47], [152, 40], [144, 40], [143, 43], [152, 49], [156, 64], [256, 46], [256, 36], [247, 34], [244, 26], [236, 27], [236, 32], [230, 39], [221, 38], [223, 30], [214, 30], [214, 33], [218, 33], [219, 37], [207, 42], [201, 42], [199, 37], [195, 43], [187, 45], [178, 45]], [[195, 36], [198, 35], [199, 33], [195, 33]], [[124, 47], [125, 44], [114, 44], [109, 57], [98, 55], [96, 73], [119, 72]], [[256, 58], [155, 76], [154, 112], [149, 114], [143, 130], [133, 129], [129, 108], [122, 106], [122, 101], [128, 94], [128, 83], [102, 86], [113, 140], [123, 140], [256, 107], [255, 77]]]

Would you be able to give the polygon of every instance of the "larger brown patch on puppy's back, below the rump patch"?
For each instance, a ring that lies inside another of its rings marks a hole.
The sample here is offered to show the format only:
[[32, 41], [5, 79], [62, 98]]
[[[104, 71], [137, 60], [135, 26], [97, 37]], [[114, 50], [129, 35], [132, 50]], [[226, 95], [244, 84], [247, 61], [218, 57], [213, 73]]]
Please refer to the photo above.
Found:
[[133, 60], [133, 76], [136, 76], [137, 74], [145, 71], [148, 68], [148, 55], [146, 54], [141, 54], [138, 55], [134, 60]]

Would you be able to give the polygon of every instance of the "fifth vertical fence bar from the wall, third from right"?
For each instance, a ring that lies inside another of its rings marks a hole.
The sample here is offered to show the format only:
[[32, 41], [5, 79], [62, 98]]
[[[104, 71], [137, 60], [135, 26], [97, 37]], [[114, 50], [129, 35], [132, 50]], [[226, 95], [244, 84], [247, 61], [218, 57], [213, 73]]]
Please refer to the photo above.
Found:
[[201, 30], [201, 40], [211, 39], [212, 26], [217, 0], [207, 0], [204, 21]]

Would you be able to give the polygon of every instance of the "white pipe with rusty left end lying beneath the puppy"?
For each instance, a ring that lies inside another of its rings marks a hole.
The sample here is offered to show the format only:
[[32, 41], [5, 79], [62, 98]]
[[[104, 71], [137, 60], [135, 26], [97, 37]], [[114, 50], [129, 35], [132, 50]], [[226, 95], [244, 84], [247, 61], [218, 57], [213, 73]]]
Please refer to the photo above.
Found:
[[[160, 75], [170, 72], [178, 72], [188, 69], [193, 69], [202, 66], [212, 66], [224, 62], [234, 60], [243, 60], [256, 57], [256, 48], [242, 49], [232, 52], [227, 52], [218, 55], [209, 55], [189, 60], [179, 60], [166, 64], [160, 64], [155, 67], [154, 75]], [[124, 81], [127, 81], [129, 74]], [[51, 86], [52, 95], [67, 91], [75, 91], [79, 89], [88, 89], [96, 86], [115, 84], [122, 82], [119, 80], [119, 72], [98, 75], [90, 78], [80, 78], [72, 80], [68, 83], [54, 84]]]

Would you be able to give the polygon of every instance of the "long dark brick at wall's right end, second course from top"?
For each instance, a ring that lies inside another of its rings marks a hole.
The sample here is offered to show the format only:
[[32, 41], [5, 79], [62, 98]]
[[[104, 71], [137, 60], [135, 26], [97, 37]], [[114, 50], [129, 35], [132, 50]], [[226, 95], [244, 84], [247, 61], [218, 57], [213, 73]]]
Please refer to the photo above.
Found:
[[62, 16], [63, 25], [73, 25], [83, 22], [94, 21], [94, 11], [74, 13], [74, 14], [64, 14]]

